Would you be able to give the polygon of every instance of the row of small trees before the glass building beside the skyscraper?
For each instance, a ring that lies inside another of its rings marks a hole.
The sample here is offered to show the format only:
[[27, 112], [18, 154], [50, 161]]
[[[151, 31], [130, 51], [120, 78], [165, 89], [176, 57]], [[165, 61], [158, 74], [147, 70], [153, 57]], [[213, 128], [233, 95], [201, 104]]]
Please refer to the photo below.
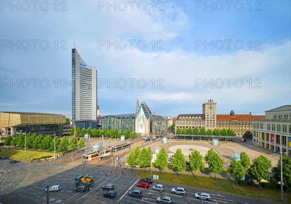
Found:
[[[120, 138], [121, 135], [124, 135], [126, 138], [129, 138], [129, 137], [133, 137], [136, 135], [135, 131], [133, 132], [130, 132], [130, 130], [121, 130], [121, 131], [118, 131], [116, 129], [104, 129], [104, 130], [101, 130], [100, 128], [96, 129], [94, 128], [93, 130], [91, 128], [82, 128], [80, 129], [79, 127], [76, 128], [76, 134], [77, 135], [81, 135], [81, 136], [84, 136], [85, 133], [88, 133], [89, 135], [91, 136], [95, 136], [95, 137], [101, 137], [102, 135], [104, 135], [105, 137], [112, 137], [114, 138], [115, 136], [117, 138]], [[70, 131], [70, 135], [74, 135], [75, 134], [75, 128], [72, 128], [71, 131]]]

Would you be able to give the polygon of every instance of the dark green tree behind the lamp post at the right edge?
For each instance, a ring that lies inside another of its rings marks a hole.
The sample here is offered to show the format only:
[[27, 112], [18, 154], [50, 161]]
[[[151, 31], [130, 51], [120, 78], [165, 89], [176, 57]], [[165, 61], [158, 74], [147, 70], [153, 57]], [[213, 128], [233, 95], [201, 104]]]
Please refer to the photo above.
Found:
[[[281, 158], [280, 158], [281, 160]], [[272, 172], [274, 173], [273, 179], [276, 182], [279, 182], [281, 180], [281, 161], [278, 160], [277, 166], [275, 166], [272, 169]], [[287, 185], [287, 189], [291, 190], [291, 158], [289, 158], [287, 155], [282, 156], [282, 170], [283, 170], [283, 182], [285, 182]]]

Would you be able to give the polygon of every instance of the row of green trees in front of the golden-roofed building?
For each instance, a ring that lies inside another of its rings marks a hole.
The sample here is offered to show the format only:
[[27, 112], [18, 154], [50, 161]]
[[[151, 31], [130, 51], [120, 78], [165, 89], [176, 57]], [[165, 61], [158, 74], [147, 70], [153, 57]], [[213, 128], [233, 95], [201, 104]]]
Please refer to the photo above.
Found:
[[[24, 148], [25, 147], [25, 136], [23, 133], [20, 133], [19, 136], [13, 138], [11, 135], [8, 135], [4, 140], [4, 145], [7, 145], [9, 148], [11, 145]], [[50, 135], [44, 136], [43, 134], [36, 135], [35, 133], [26, 135], [26, 148], [28, 149], [44, 149], [44, 150], [54, 150], [56, 149], [59, 152], [65, 152], [67, 150], [74, 150], [78, 146], [84, 147], [84, 140], [79, 140], [76, 137], [71, 137], [68, 141], [67, 137], [63, 137], [61, 140], [58, 137], [52, 138]]]

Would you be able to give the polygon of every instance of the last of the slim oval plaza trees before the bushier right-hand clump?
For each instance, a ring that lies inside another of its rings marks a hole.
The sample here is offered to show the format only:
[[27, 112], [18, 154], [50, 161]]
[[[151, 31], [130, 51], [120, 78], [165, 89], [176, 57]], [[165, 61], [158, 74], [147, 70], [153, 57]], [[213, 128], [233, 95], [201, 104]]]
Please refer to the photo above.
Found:
[[223, 172], [223, 160], [220, 159], [213, 149], [210, 149], [205, 155], [205, 161], [208, 163], [209, 171], [214, 173], [216, 179], [216, 174], [221, 174]]

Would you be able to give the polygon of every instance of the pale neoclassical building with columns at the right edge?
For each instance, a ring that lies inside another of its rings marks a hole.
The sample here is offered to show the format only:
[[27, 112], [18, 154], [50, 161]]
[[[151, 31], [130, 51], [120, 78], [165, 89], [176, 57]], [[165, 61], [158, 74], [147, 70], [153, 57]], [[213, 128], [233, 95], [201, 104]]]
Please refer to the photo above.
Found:
[[265, 111], [265, 119], [253, 120], [253, 145], [291, 155], [291, 105]]

